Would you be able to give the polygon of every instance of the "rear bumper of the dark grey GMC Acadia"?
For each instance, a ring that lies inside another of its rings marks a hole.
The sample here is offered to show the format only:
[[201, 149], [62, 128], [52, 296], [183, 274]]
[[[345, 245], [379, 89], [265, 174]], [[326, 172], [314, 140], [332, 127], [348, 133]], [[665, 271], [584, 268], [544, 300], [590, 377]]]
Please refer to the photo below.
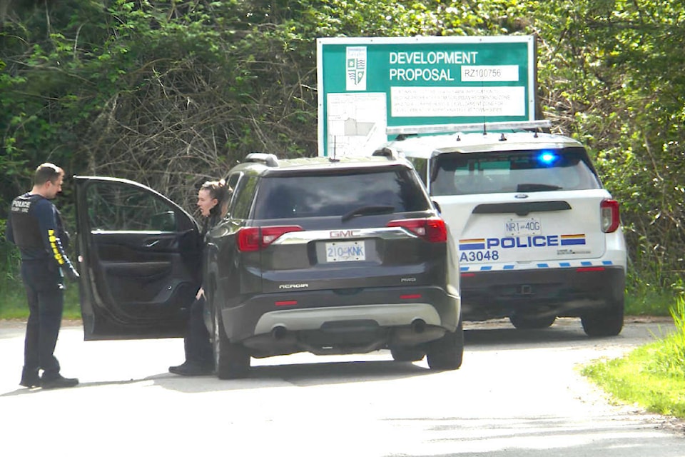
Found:
[[439, 287], [268, 293], [224, 308], [222, 317], [228, 338], [253, 356], [362, 353], [455, 331], [460, 299]]

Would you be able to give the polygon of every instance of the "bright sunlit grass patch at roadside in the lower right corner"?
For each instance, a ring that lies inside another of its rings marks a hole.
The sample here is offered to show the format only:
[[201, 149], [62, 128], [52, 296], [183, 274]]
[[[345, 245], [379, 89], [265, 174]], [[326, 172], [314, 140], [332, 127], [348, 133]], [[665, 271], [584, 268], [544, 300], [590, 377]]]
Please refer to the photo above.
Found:
[[582, 369], [604, 391], [647, 411], [685, 418], [685, 298], [671, 307], [676, 331], [622, 358]]

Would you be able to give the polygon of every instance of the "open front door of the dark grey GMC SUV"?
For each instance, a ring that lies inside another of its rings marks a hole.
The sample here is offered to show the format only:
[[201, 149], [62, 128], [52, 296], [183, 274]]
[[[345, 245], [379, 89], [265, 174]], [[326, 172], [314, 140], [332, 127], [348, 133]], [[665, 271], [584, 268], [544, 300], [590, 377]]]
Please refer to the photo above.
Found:
[[142, 184], [73, 180], [85, 339], [183, 336], [201, 283], [197, 222]]

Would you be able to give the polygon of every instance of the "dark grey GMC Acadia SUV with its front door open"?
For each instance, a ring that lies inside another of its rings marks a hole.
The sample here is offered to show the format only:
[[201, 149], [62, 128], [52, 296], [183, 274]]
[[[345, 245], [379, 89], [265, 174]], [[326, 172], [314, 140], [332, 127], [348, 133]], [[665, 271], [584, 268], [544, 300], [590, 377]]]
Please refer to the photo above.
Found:
[[[390, 349], [461, 366], [451, 236], [407, 161], [250, 154], [203, 258], [220, 378], [250, 358]], [[76, 176], [86, 339], [180, 336], [198, 287], [198, 227], [140, 184]]]

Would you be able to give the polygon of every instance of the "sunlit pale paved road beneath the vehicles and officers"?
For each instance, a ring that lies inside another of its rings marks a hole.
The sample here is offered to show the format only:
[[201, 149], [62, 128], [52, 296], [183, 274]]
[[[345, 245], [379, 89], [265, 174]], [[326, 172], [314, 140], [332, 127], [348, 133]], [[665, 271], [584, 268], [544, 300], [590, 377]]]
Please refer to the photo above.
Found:
[[[467, 326], [464, 365], [434, 373], [387, 352], [254, 361], [219, 381], [167, 373], [183, 341], [84, 342], [57, 355], [76, 388], [16, 383], [24, 327], [0, 323], [0, 443], [10, 456], [685, 456], [685, 428], [612, 406], [579, 364], [617, 357], [671, 328], [631, 322], [587, 338], [577, 319], [545, 331]], [[40, 433], [36, 433], [40, 431]], [[47, 443], [56, 443], [57, 451]]]

